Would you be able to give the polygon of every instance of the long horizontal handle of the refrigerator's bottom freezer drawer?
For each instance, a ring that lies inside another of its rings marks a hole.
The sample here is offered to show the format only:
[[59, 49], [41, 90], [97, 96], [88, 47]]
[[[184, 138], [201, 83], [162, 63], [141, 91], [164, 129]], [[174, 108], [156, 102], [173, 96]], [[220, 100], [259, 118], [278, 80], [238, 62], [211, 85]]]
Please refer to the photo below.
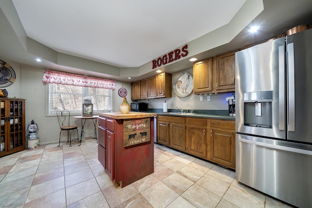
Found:
[[312, 155], [312, 151], [309, 151], [309, 150], [303, 150], [303, 149], [296, 149], [296, 148], [287, 147], [287, 146], [267, 144], [267, 143], [263, 143], [263, 142], [249, 140], [249, 139], [246, 139], [246, 137], [238, 137], [237, 140], [240, 142], [254, 144], [254, 145], [261, 146], [261, 147], [272, 148], [275, 150], [291, 151], [291, 152], [295, 152], [295, 153], [299, 153], [299, 154]]

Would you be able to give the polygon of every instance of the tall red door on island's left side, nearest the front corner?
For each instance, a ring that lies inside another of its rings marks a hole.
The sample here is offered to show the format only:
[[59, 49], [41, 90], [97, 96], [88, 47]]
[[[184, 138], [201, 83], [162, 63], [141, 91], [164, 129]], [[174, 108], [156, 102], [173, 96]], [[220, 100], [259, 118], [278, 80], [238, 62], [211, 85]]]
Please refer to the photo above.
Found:
[[111, 131], [106, 132], [106, 172], [109, 177], [114, 179], [114, 138], [115, 134]]

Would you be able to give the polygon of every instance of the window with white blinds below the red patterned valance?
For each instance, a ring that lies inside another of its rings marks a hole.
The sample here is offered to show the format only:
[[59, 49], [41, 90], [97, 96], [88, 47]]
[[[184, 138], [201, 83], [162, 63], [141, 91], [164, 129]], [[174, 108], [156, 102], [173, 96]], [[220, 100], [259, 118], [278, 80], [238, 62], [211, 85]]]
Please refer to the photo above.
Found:
[[49, 113], [57, 110], [82, 112], [83, 98], [91, 97], [94, 112], [113, 108], [113, 90], [103, 88], [80, 87], [73, 85], [49, 84]]

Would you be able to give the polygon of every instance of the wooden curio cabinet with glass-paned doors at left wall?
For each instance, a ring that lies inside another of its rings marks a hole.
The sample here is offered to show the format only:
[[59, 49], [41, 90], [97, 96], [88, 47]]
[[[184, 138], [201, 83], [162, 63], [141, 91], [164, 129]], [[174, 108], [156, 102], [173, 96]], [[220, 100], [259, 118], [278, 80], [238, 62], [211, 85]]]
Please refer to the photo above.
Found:
[[25, 150], [25, 100], [0, 99], [0, 157]]

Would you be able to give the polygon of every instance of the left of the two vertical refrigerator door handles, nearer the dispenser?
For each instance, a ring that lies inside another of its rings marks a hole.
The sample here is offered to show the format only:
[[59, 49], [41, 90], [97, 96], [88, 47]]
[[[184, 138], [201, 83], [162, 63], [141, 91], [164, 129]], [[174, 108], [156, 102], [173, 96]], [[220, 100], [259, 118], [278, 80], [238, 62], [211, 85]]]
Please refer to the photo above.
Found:
[[278, 129], [285, 130], [285, 47], [284, 45], [278, 47]]

